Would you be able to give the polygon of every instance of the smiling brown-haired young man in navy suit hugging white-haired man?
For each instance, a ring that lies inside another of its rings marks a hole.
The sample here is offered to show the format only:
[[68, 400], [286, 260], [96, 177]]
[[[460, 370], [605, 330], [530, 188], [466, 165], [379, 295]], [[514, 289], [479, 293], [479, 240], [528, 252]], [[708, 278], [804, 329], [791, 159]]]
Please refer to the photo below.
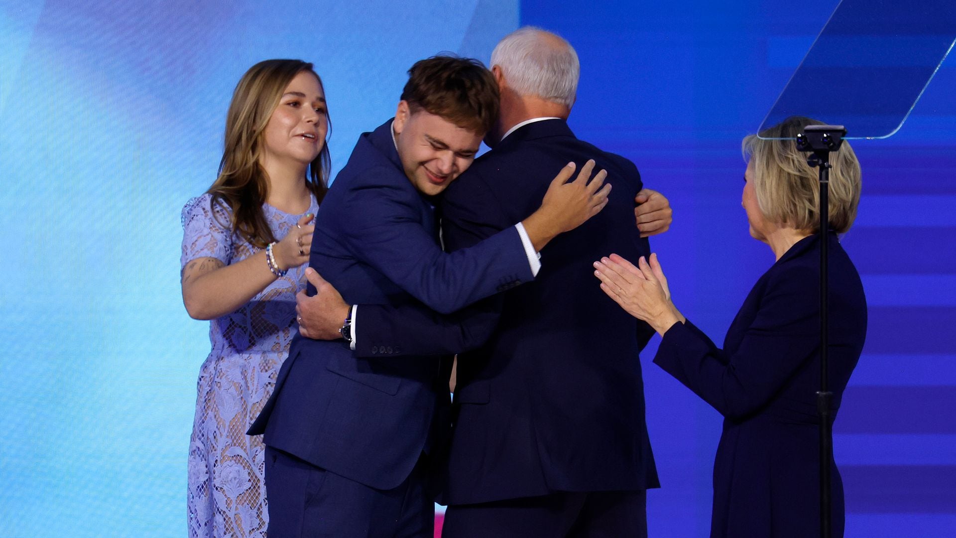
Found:
[[[537, 211], [445, 254], [433, 197], [471, 165], [498, 100], [477, 61], [436, 56], [409, 70], [394, 121], [359, 138], [316, 217], [310, 266], [349, 302], [458, 310], [532, 280], [537, 251], [606, 205], [603, 171], [591, 180], [589, 163], [568, 182], [574, 166], [562, 163]], [[423, 467], [445, 432], [447, 369], [399, 354], [382, 346], [357, 360], [347, 342], [293, 339], [249, 431], [265, 434], [270, 538], [431, 536]]]

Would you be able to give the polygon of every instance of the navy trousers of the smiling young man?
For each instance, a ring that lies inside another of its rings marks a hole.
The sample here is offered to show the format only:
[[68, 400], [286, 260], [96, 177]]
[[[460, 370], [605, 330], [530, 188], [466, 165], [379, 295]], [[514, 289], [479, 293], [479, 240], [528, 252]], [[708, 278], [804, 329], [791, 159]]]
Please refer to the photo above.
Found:
[[269, 538], [432, 538], [424, 456], [394, 489], [375, 489], [266, 447]]

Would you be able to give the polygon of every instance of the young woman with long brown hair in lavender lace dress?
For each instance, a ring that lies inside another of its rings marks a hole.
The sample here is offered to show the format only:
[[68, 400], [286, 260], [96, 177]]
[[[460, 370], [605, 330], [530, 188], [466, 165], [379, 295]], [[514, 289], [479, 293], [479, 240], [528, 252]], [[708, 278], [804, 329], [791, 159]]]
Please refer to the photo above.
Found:
[[189, 443], [190, 537], [265, 536], [262, 437], [246, 430], [297, 330], [328, 127], [311, 63], [252, 66], [232, 95], [219, 176], [183, 209], [183, 301], [189, 316], [210, 320], [212, 343]]

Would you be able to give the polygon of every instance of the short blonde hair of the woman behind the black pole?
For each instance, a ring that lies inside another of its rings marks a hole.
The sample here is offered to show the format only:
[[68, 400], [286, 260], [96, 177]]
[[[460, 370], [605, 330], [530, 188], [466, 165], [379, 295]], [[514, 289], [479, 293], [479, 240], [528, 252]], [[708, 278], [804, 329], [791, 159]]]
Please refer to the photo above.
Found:
[[[753, 167], [753, 190], [764, 217], [779, 225], [815, 234], [819, 231], [818, 169], [807, 164], [810, 153], [793, 140], [807, 125], [824, 123], [792, 116], [744, 139], [744, 158]], [[768, 140], [776, 139], [776, 140]], [[850, 143], [830, 154], [830, 230], [845, 234], [857, 218], [860, 170]]]

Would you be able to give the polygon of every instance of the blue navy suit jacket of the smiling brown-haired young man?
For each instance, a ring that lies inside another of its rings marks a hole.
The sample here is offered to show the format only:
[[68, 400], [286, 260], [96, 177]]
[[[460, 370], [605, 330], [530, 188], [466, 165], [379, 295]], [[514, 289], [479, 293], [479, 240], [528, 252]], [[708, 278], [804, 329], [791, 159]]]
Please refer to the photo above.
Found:
[[[326, 194], [309, 263], [348, 303], [424, 303], [445, 312], [533, 278], [513, 227], [473, 248], [442, 251], [430, 201], [402, 170], [391, 121], [359, 137]], [[398, 486], [448, 399], [440, 359], [396, 360], [400, 351], [381, 347], [357, 360], [341, 340], [295, 335], [249, 434], [265, 433], [266, 444], [348, 479]]]

